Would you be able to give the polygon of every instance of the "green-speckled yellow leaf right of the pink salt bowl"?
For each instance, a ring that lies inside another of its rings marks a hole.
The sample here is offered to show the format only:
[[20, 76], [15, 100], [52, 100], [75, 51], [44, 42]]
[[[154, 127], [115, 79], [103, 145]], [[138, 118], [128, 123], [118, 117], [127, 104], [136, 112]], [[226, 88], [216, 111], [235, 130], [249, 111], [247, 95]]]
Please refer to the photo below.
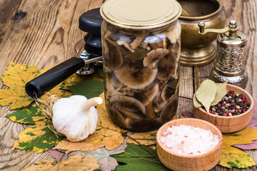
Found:
[[248, 127], [237, 133], [223, 134], [222, 155], [218, 164], [229, 168], [247, 168], [256, 165], [256, 162], [250, 155], [231, 146], [236, 144], [250, 144], [256, 139], [257, 130]]

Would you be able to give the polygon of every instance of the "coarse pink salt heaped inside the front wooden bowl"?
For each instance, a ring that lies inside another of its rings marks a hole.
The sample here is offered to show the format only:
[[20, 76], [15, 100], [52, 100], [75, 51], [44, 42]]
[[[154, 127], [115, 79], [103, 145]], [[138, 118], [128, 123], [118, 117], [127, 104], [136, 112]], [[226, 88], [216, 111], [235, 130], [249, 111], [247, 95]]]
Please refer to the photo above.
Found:
[[211, 130], [179, 125], [167, 128], [161, 135], [163, 145], [178, 155], [202, 155], [218, 145], [218, 135]]

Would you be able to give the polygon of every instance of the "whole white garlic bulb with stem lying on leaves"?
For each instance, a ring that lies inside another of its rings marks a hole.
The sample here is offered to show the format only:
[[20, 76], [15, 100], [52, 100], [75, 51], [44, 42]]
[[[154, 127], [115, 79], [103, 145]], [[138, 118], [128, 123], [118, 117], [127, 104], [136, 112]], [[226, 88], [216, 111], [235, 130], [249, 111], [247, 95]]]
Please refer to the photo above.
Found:
[[96, 97], [87, 99], [83, 95], [60, 98], [53, 105], [53, 125], [71, 142], [86, 139], [96, 130], [98, 112], [95, 105], [103, 103]]

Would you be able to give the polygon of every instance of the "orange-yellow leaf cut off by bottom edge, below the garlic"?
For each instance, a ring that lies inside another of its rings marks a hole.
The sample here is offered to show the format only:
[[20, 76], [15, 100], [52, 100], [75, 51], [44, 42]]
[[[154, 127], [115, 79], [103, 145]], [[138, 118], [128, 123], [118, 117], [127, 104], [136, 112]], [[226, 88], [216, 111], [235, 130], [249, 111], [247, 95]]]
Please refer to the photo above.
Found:
[[93, 171], [99, 168], [96, 158], [84, 157], [83, 155], [74, 155], [61, 162], [55, 160], [41, 160], [36, 161], [35, 164], [36, 166], [28, 167], [22, 171]]

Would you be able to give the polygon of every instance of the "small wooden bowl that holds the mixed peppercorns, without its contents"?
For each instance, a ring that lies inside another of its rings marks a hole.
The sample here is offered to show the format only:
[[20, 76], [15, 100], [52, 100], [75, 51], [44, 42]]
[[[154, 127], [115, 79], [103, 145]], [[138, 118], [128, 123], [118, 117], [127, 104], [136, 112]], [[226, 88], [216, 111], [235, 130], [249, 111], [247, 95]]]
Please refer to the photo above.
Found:
[[[245, 113], [236, 116], [219, 116], [207, 113], [203, 108], [193, 107], [193, 115], [195, 118], [206, 120], [213, 125], [216, 125], [221, 133], [234, 133], [238, 130], [245, 128], [251, 121], [253, 113], [253, 97], [243, 88], [227, 84], [227, 91], [234, 90], [237, 94], [243, 94], [246, 96], [246, 100], [250, 103], [250, 108]], [[196, 93], [193, 95], [195, 96]]]

